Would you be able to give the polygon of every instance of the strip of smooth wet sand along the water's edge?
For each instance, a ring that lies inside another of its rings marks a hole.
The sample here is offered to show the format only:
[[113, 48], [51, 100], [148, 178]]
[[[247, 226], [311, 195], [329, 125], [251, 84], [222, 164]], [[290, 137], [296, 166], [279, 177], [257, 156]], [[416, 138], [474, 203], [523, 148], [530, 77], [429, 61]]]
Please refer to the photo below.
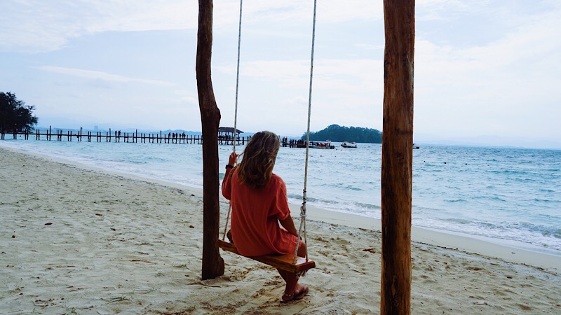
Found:
[[[94, 167], [91, 165], [84, 165], [79, 162], [64, 160], [50, 155], [41, 153], [34, 153], [29, 151], [22, 151], [14, 148], [0, 147], [0, 150], [5, 149], [15, 153], [30, 155], [35, 158], [44, 158], [51, 162], [59, 163], [62, 165], [69, 165], [78, 169], [98, 172], [100, 174], [107, 174], [109, 176], [117, 176], [124, 179], [132, 179], [135, 181], [144, 181], [147, 183], [156, 183], [161, 186], [187, 190], [189, 193], [196, 195], [203, 195], [202, 188], [187, 186], [181, 183], [173, 183], [170, 181], [163, 181], [159, 179], [151, 179], [149, 177], [137, 176], [135, 174], [128, 174], [125, 172], [110, 171], [101, 167]], [[228, 203], [222, 195], [219, 195], [219, 200], [222, 204]], [[300, 204], [289, 204], [290, 212], [293, 218], [299, 220]], [[371, 218], [368, 216], [360, 216], [358, 214], [348, 214], [343, 212], [331, 211], [320, 207], [306, 205], [307, 215], [309, 220], [344, 225], [349, 228], [360, 228], [367, 230], [381, 231], [381, 220]], [[295, 221], [295, 223], [297, 223]], [[490, 258], [499, 258], [509, 262], [515, 262], [525, 265], [532, 265], [544, 269], [554, 269], [556, 272], [561, 272], [561, 255], [554, 255], [553, 253], [546, 253], [540, 251], [541, 248], [535, 250], [522, 248], [525, 246], [532, 246], [518, 241], [511, 241], [513, 243], [520, 243], [520, 246], [509, 246], [506, 240], [492, 239], [490, 237], [482, 237], [479, 235], [468, 235], [459, 232], [436, 230], [431, 228], [419, 227], [412, 225], [411, 227], [411, 241], [420, 244], [428, 244], [447, 249], [456, 249], [466, 253], [475, 253], [478, 255], [485, 255]], [[313, 246], [313, 244], [310, 244]]]

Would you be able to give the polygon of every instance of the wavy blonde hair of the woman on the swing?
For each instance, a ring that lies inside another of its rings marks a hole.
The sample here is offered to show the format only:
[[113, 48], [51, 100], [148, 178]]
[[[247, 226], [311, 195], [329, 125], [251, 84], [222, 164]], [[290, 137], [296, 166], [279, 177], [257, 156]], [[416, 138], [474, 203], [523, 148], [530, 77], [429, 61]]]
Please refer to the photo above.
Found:
[[238, 178], [251, 188], [262, 188], [271, 180], [280, 141], [273, 132], [257, 132], [243, 150]]

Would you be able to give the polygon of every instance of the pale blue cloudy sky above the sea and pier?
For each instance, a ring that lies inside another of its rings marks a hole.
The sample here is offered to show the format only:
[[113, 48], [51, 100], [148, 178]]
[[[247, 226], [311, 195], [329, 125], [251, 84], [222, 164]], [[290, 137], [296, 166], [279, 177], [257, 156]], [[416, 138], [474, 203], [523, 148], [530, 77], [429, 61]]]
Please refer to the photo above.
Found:
[[[414, 142], [561, 148], [561, 1], [417, 0]], [[0, 92], [39, 126], [201, 131], [195, 0], [3, 0]], [[212, 85], [234, 126], [240, 2], [215, 0]], [[306, 132], [312, 0], [243, 1], [237, 127]], [[383, 130], [381, 0], [318, 0], [311, 131]]]

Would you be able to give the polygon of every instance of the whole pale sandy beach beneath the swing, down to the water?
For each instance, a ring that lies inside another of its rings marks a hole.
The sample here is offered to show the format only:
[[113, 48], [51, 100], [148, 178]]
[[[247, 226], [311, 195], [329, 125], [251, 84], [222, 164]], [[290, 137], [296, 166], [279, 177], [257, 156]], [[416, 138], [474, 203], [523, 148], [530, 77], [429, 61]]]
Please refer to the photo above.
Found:
[[[6, 148], [0, 165], [1, 314], [379, 313], [377, 220], [309, 209], [310, 293], [280, 304], [278, 273], [231, 253], [201, 281], [202, 190]], [[412, 234], [412, 314], [561, 314], [560, 257]]]

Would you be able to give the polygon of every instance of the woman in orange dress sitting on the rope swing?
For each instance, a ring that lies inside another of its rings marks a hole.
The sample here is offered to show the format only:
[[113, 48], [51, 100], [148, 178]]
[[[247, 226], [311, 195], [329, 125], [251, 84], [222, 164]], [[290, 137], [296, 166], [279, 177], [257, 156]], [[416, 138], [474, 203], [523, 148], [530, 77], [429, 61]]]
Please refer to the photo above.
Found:
[[[280, 141], [273, 132], [257, 132], [243, 151], [231, 153], [222, 195], [231, 201], [231, 237], [238, 252], [245, 256], [294, 253], [298, 231], [290, 216], [286, 184], [273, 174]], [[282, 225], [282, 228], [279, 226]], [[298, 255], [306, 255], [306, 244], [299, 241]], [[298, 284], [299, 276], [277, 269], [286, 282], [280, 302], [300, 300], [309, 292]]]

